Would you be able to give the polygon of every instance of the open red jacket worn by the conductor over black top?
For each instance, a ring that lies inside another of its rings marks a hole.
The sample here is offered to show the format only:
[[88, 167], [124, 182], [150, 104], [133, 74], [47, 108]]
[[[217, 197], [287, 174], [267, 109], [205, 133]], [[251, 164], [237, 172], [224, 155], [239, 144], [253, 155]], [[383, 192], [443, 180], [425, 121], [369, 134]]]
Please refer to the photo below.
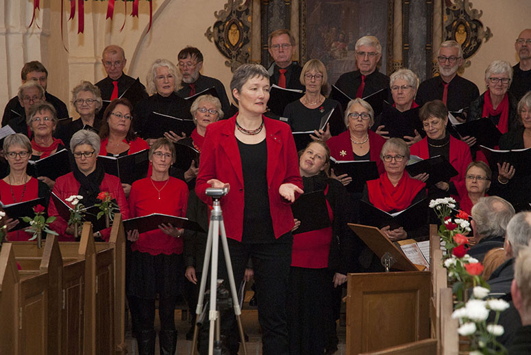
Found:
[[[293, 183], [302, 189], [302, 179], [299, 174], [297, 148], [288, 124], [262, 117], [267, 133], [269, 209], [275, 238], [278, 238], [291, 231], [294, 225], [289, 202], [280, 196], [278, 188], [283, 183]], [[225, 231], [227, 237], [241, 241], [244, 191], [240, 150], [234, 136], [235, 127], [236, 116], [208, 125], [205, 143], [201, 149], [195, 192], [203, 202], [211, 205], [212, 200], [205, 194], [205, 190], [210, 187], [206, 182], [218, 179], [230, 184], [230, 192], [221, 199], [221, 208], [225, 215]]]

